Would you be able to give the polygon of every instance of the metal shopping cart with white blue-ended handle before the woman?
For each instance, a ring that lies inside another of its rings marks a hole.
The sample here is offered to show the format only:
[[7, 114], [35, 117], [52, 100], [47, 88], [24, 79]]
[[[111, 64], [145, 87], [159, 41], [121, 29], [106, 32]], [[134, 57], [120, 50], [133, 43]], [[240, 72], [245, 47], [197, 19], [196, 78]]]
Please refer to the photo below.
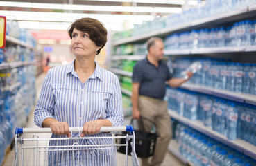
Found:
[[[101, 127], [100, 132], [128, 131], [126, 136], [80, 137], [83, 127], [70, 127], [71, 138], [45, 138], [52, 133], [51, 128], [16, 128], [15, 166], [19, 165], [117, 165], [117, 146], [126, 146], [126, 166], [128, 165], [128, 141], [131, 139], [132, 165], [139, 165], [135, 153], [135, 133], [132, 126]], [[34, 135], [37, 133], [37, 135]], [[76, 134], [75, 134], [76, 133]], [[23, 134], [21, 136], [21, 134]], [[27, 135], [27, 136], [26, 136]], [[76, 135], [76, 136], [74, 136]], [[40, 137], [43, 138], [40, 138]], [[24, 138], [23, 138], [24, 137]], [[126, 139], [125, 144], [117, 144], [116, 139]], [[105, 141], [108, 140], [108, 141]], [[60, 142], [51, 145], [49, 142]], [[85, 142], [101, 142], [99, 145]], [[108, 142], [102, 144], [102, 142]], [[108, 156], [108, 157], [106, 157]], [[29, 160], [29, 161], [28, 161]], [[90, 163], [91, 162], [91, 163]]]

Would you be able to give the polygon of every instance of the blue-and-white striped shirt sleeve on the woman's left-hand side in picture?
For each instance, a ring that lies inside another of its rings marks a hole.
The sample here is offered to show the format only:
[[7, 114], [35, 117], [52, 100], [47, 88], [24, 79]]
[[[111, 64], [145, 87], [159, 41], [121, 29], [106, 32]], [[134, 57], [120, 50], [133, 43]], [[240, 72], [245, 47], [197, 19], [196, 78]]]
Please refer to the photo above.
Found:
[[42, 84], [42, 90], [35, 106], [34, 121], [37, 126], [42, 127], [42, 122], [46, 118], [54, 118], [54, 104], [53, 90], [51, 87], [51, 70], [49, 70]]

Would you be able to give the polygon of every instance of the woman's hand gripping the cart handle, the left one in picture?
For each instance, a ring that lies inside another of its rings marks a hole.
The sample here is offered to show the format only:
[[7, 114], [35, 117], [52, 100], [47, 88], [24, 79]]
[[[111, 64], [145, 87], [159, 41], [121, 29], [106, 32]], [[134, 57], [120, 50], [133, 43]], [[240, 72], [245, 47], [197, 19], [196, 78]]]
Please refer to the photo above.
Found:
[[56, 135], [67, 135], [67, 137], [71, 137], [71, 133], [69, 133], [69, 124], [67, 124], [67, 122], [52, 122], [50, 127], [51, 131]]

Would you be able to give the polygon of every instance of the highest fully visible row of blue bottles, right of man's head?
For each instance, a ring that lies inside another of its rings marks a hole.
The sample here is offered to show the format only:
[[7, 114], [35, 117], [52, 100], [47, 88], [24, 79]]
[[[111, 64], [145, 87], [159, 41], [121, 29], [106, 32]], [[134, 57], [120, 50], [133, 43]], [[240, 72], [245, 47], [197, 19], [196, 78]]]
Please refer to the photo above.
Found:
[[203, 28], [189, 32], [173, 34], [164, 40], [165, 48], [196, 49], [225, 46], [251, 46], [256, 44], [256, 21], [239, 21], [224, 28]]

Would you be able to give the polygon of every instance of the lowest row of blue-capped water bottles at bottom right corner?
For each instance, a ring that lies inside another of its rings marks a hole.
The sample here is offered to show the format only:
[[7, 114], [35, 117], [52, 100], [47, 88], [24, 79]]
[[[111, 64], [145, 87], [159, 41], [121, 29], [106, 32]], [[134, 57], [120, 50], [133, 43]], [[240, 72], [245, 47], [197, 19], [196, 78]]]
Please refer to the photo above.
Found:
[[178, 123], [175, 129], [179, 151], [182, 156], [197, 166], [250, 166], [256, 160], [221, 142], [209, 138], [194, 129]]

